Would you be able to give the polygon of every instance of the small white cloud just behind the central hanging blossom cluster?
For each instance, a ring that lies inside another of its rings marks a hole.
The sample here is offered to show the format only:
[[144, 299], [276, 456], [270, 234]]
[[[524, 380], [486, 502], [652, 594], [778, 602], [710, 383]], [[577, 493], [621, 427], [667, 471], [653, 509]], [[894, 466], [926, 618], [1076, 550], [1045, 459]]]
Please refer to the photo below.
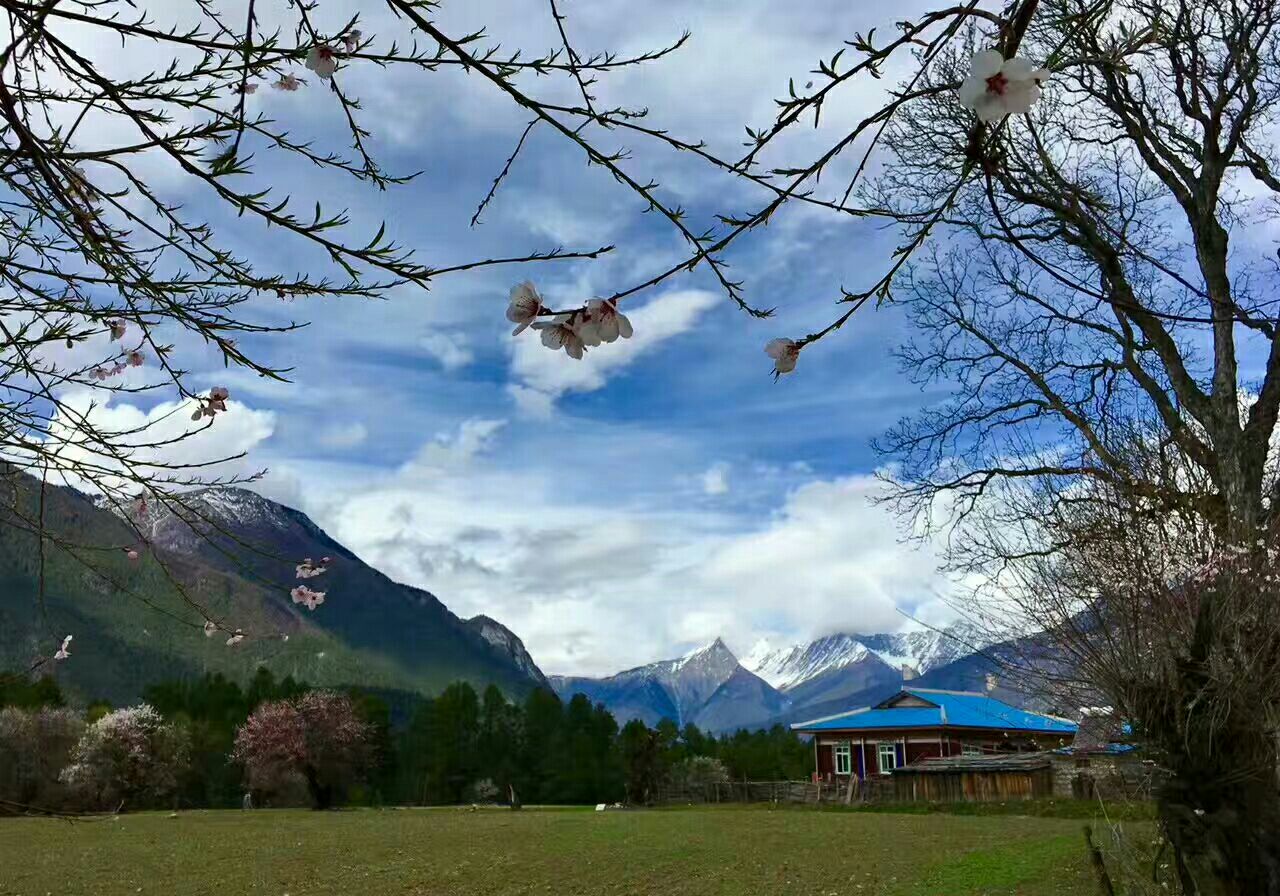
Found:
[[[512, 340], [511, 370], [517, 387], [547, 396], [547, 403], [568, 392], [595, 392], [609, 376], [625, 370], [641, 356], [659, 349], [672, 337], [692, 329], [699, 317], [719, 298], [704, 289], [675, 289], [648, 303], [625, 311], [635, 335], [586, 352], [581, 361], [548, 349], [536, 334], [526, 333]], [[540, 407], [527, 396], [512, 393], [522, 407]]]

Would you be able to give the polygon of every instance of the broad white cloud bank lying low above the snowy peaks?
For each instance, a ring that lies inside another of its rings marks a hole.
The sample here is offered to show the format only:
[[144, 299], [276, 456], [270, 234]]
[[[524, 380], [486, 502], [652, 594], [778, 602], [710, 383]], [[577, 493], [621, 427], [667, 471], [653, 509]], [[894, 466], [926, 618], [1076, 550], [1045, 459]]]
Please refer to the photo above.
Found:
[[895, 631], [900, 607], [932, 613], [951, 589], [899, 543], [872, 476], [810, 480], [772, 517], [649, 507], [612, 493], [607, 444], [543, 454], [499, 440], [507, 425], [467, 420], [393, 475], [328, 476], [346, 486], [308, 509], [392, 577], [500, 620], [548, 672], [616, 672], [716, 636], [745, 650]]

